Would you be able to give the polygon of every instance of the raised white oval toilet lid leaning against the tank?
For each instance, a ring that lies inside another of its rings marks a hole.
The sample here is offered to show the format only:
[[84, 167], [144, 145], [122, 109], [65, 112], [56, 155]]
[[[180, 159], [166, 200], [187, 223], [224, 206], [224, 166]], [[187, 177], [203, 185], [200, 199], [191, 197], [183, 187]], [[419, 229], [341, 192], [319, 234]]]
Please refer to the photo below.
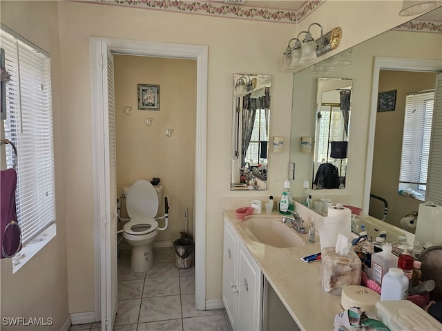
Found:
[[148, 181], [135, 181], [126, 195], [126, 210], [131, 219], [153, 219], [158, 210], [158, 195]]

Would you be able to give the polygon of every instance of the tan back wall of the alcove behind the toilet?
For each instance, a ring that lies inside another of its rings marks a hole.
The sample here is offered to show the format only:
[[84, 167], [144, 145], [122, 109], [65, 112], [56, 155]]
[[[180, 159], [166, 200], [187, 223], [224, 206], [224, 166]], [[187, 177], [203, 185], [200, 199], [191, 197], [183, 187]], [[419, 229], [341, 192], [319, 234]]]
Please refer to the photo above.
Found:
[[[114, 63], [117, 194], [121, 197], [123, 187], [138, 179], [160, 177], [170, 205], [169, 226], [155, 241], [173, 241], [184, 231], [185, 208], [188, 232], [193, 227], [196, 61], [115, 55]], [[160, 111], [137, 110], [139, 83], [160, 85]], [[131, 116], [123, 112], [126, 106], [132, 107]], [[144, 123], [148, 117], [151, 127]], [[164, 134], [168, 128], [170, 138]], [[164, 201], [160, 208], [164, 212]]]

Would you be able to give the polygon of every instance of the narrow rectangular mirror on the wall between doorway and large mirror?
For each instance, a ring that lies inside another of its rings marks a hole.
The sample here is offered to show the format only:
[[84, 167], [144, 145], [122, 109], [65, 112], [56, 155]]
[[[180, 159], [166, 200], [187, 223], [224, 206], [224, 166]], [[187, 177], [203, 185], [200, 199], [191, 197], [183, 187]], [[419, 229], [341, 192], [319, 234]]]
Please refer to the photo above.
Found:
[[271, 76], [233, 74], [231, 190], [266, 190]]

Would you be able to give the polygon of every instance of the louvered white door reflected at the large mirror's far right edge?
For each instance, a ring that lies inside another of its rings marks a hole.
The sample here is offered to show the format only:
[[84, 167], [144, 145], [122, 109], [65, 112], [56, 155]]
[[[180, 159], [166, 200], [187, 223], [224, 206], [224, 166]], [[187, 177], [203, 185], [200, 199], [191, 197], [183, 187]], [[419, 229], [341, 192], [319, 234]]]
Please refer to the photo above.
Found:
[[427, 201], [442, 205], [442, 73], [436, 78], [434, 114], [428, 166]]

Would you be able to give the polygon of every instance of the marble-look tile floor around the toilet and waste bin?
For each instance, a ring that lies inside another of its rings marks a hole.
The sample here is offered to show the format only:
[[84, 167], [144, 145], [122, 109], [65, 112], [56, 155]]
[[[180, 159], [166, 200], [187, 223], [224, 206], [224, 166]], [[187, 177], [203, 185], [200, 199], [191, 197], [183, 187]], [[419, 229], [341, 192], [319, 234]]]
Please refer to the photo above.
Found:
[[[118, 308], [113, 331], [228, 331], [224, 309], [195, 310], [195, 270], [175, 267], [173, 248], [154, 248], [153, 268], [132, 272], [131, 252], [118, 258]], [[99, 331], [101, 323], [70, 331]]]

